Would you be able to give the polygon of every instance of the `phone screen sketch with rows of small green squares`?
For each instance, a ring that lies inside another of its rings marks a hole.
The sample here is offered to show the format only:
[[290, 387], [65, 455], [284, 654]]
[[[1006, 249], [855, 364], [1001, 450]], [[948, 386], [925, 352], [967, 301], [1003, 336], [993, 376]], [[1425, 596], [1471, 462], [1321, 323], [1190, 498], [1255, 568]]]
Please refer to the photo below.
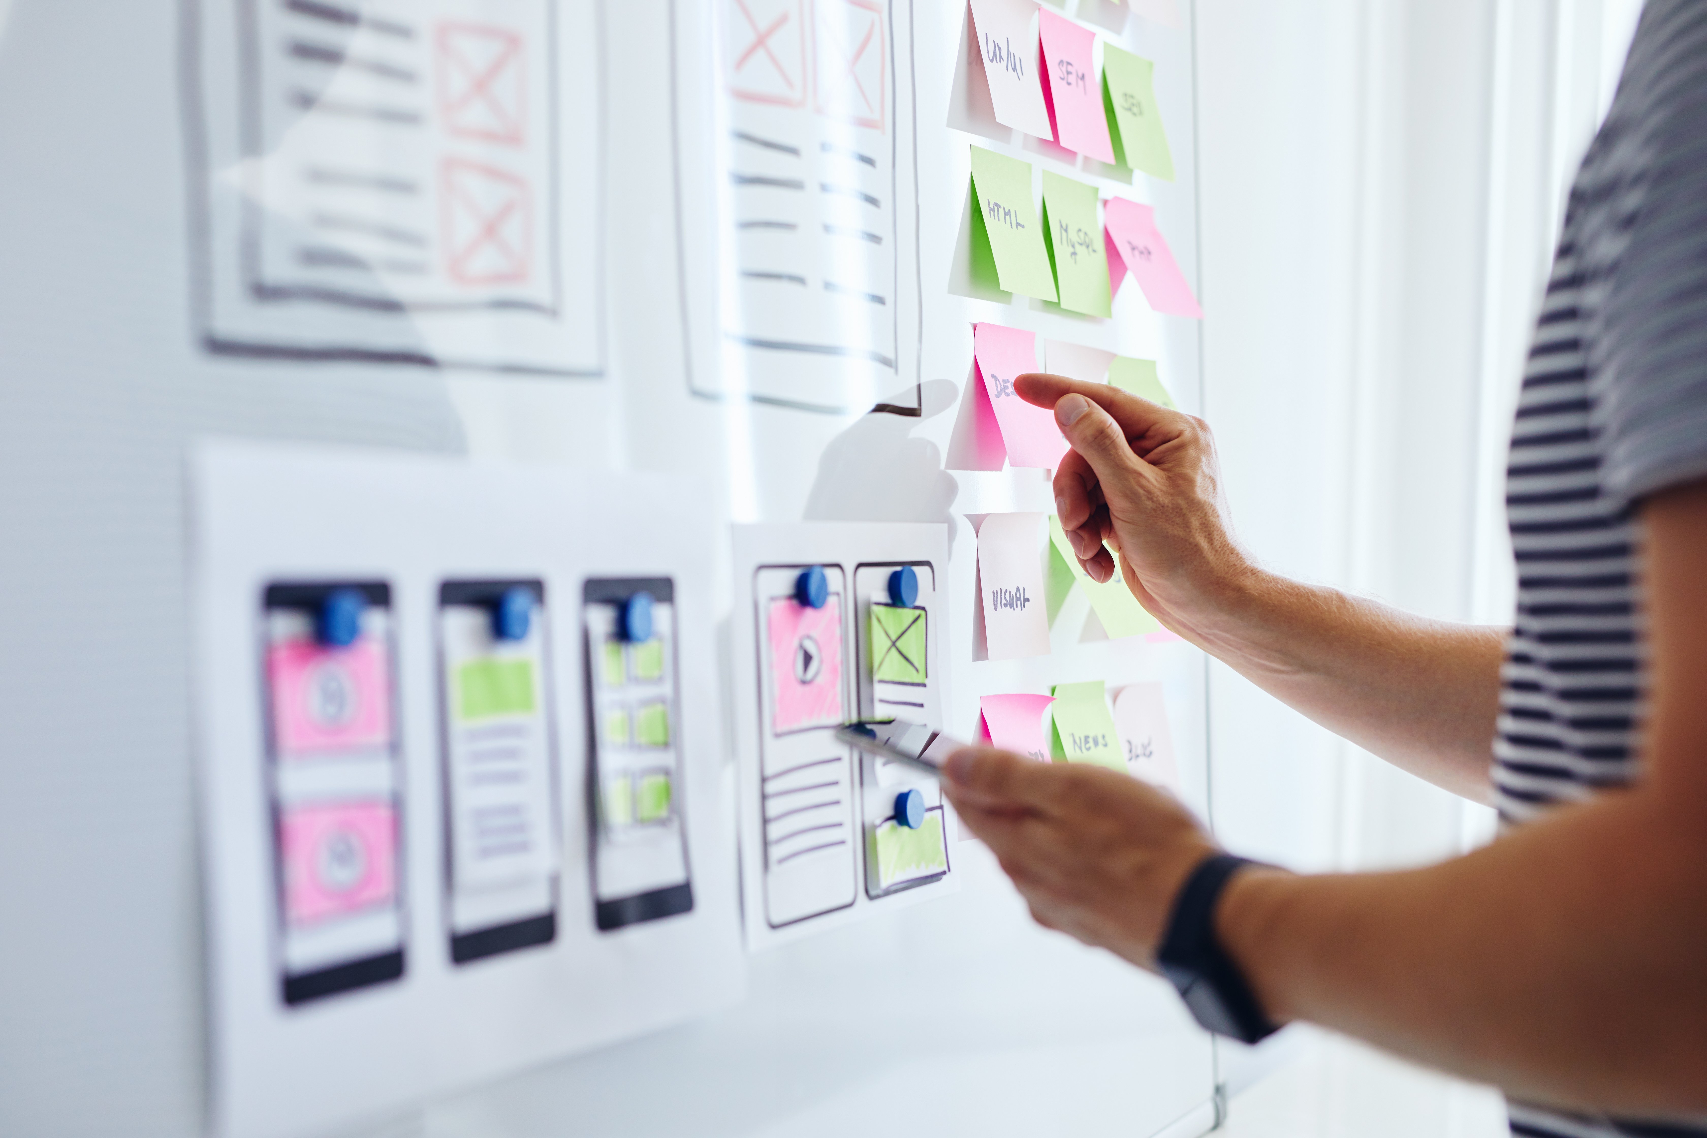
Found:
[[589, 580], [582, 594], [592, 896], [601, 930], [693, 908], [674, 597], [669, 578]]

